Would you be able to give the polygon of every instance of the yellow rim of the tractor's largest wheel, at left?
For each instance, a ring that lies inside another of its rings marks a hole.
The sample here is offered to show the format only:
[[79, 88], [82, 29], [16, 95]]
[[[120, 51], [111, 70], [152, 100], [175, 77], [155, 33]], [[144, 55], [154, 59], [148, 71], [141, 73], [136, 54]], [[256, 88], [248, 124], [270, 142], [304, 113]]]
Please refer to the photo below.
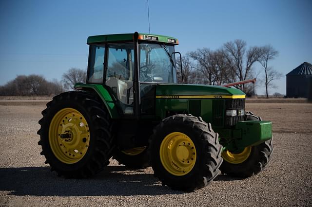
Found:
[[49, 127], [49, 143], [59, 161], [78, 162], [86, 154], [89, 141], [89, 126], [79, 111], [64, 108], [54, 115]]

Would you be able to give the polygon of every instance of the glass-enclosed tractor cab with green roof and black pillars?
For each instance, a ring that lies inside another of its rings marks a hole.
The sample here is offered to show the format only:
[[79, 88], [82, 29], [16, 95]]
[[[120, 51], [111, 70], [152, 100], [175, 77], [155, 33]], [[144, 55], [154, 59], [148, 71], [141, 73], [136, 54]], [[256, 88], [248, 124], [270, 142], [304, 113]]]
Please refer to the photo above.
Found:
[[103, 85], [115, 99], [121, 116], [134, 116], [136, 105], [137, 114], [148, 113], [154, 109], [151, 104], [155, 96], [148, 98], [153, 86], [177, 82], [177, 39], [173, 37], [99, 35], [90, 36], [88, 44], [87, 84]]

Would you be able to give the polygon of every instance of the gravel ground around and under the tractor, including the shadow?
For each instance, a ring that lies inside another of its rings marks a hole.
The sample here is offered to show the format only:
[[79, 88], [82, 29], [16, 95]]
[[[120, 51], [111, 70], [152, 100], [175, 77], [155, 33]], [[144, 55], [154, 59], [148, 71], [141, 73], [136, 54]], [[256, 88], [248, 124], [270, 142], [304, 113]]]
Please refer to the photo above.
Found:
[[[259, 107], [247, 104], [249, 110]], [[302, 113], [302, 107], [293, 106], [293, 113], [308, 120], [300, 127], [310, 128], [311, 114]], [[312, 109], [312, 104], [305, 107]], [[248, 179], [219, 175], [206, 188], [186, 193], [161, 186], [151, 168], [129, 171], [115, 160], [90, 179], [51, 173], [37, 145], [42, 109], [0, 105], [0, 206], [312, 206], [311, 128], [274, 132], [273, 160], [262, 173]], [[271, 117], [280, 113], [273, 112]], [[294, 126], [301, 123], [293, 118]], [[281, 119], [275, 124], [289, 122]]]

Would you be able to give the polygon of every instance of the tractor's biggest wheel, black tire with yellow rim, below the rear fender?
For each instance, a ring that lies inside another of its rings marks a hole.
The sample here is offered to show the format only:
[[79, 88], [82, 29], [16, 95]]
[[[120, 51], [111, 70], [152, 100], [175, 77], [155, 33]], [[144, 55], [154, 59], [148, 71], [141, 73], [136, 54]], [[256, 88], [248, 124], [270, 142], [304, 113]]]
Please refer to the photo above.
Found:
[[112, 156], [112, 127], [97, 97], [81, 91], [59, 94], [42, 111], [41, 155], [51, 171], [67, 178], [94, 175]]

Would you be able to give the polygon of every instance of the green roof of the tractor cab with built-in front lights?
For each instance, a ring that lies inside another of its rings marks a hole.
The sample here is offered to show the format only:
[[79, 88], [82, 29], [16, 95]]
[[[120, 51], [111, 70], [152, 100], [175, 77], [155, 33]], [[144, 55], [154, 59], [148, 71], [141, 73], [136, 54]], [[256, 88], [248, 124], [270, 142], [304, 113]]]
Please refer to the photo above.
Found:
[[[152, 35], [152, 34], [138, 34], [139, 40], [152, 41], [152, 42], [162, 42], [172, 45], [178, 45], [179, 42], [176, 38], [171, 36], [164, 35]], [[107, 43], [107, 42], [122, 42], [122, 41], [133, 41], [134, 33], [128, 34], [113, 34], [113, 35], [95, 35], [89, 36], [87, 44], [96, 44], [96, 43]]]

